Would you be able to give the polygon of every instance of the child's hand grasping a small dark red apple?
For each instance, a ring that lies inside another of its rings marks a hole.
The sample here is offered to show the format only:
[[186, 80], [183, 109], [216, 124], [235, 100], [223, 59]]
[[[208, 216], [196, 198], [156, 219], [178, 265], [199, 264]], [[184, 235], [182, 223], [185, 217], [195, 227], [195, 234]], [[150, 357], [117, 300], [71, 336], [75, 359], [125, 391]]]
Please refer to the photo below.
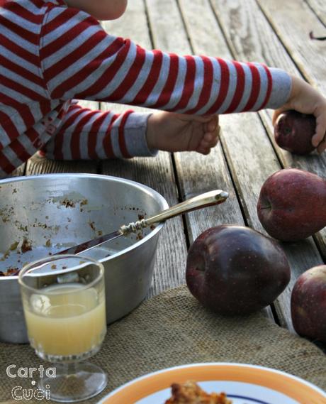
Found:
[[273, 124], [277, 116], [287, 109], [295, 109], [303, 114], [313, 114], [316, 117], [316, 133], [313, 136], [313, 146], [318, 153], [326, 149], [326, 99], [316, 89], [298, 77], [292, 77], [292, 89], [288, 102], [274, 112]]

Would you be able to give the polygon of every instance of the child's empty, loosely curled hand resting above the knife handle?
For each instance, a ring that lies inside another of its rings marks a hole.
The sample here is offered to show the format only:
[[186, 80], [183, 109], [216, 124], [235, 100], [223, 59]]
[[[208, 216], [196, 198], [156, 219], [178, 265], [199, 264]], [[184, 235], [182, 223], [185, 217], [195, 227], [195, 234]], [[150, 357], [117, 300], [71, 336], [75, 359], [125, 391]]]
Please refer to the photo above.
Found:
[[218, 115], [196, 116], [160, 111], [147, 123], [149, 148], [162, 151], [210, 153], [218, 143]]

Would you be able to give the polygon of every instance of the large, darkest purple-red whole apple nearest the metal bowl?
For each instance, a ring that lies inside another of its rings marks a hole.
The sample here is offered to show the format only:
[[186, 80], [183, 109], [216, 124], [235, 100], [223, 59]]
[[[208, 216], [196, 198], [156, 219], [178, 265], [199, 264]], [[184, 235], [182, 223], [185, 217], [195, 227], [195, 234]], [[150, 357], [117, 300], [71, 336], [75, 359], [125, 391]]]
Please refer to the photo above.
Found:
[[186, 283], [205, 307], [221, 315], [248, 315], [286, 288], [290, 268], [281, 246], [244, 226], [204, 231], [189, 249]]

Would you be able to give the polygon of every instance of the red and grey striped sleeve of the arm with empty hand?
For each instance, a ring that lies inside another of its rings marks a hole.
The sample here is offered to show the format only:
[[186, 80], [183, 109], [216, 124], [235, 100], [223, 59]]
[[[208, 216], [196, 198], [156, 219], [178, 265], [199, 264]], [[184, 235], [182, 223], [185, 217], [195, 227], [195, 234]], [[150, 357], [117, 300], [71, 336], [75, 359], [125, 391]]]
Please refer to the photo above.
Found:
[[72, 104], [41, 151], [55, 160], [101, 160], [155, 155], [147, 146], [149, 114], [98, 111]]

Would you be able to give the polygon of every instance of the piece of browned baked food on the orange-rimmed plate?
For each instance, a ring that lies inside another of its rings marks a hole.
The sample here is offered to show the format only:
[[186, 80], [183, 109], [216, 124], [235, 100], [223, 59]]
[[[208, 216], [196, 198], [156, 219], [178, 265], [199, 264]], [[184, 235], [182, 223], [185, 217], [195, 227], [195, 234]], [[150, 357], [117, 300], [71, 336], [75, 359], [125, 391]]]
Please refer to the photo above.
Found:
[[174, 383], [171, 388], [172, 397], [165, 404], [232, 404], [225, 393], [208, 394], [194, 381]]

